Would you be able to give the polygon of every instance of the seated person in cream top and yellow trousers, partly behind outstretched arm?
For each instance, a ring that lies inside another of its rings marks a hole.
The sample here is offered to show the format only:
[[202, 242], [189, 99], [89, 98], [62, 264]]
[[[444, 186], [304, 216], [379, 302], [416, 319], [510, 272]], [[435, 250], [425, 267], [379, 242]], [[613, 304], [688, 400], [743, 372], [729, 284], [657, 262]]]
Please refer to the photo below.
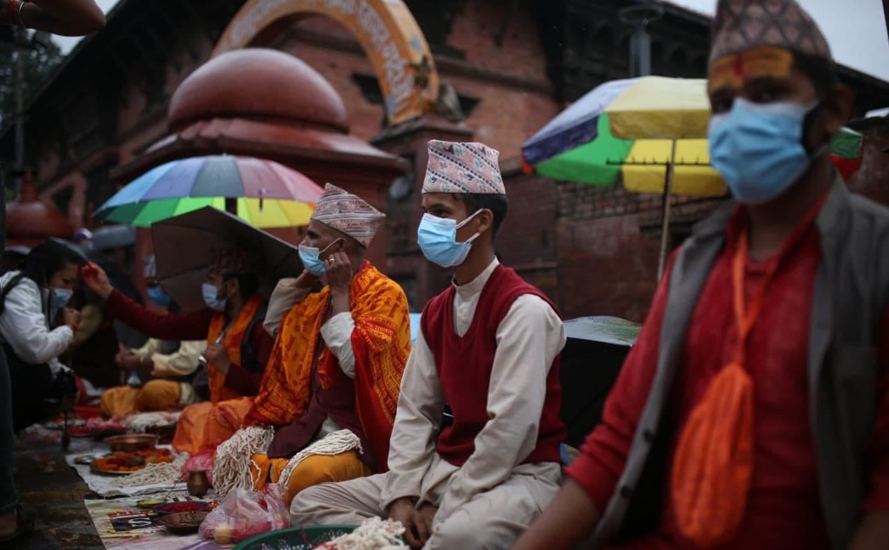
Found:
[[[178, 313], [179, 308], [172, 304], [172, 299], [157, 283], [154, 256], [145, 259], [143, 275], [148, 298], [157, 307]], [[131, 412], [175, 411], [200, 401], [191, 382], [201, 366], [200, 357], [206, 347], [206, 339], [151, 338], [142, 347], [117, 354], [116, 366], [125, 374], [147, 373], [152, 379], [143, 387], [109, 387], [101, 396], [102, 414], [114, 418]]]

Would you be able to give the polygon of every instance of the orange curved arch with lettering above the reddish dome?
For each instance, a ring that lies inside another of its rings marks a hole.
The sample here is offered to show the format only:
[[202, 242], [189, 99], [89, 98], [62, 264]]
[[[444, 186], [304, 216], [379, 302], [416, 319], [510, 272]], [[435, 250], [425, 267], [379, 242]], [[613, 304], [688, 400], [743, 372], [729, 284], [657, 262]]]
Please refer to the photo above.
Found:
[[356, 37], [371, 60], [389, 124], [433, 110], [438, 74], [417, 21], [402, 0], [249, 0], [222, 33], [212, 55], [268, 45], [308, 15], [324, 15]]

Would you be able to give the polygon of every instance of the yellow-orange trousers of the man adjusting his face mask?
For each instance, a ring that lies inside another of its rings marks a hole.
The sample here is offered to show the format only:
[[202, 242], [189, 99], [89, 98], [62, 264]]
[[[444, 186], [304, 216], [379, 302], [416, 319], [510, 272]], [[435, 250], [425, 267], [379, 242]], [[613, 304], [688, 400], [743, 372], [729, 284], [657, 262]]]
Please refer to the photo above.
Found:
[[[268, 483], [276, 483], [281, 479], [281, 472], [289, 462], [288, 458], [268, 458], [264, 454], [253, 455], [253, 461], [260, 466], [259, 472], [252, 470], [253, 487], [257, 490]], [[347, 482], [350, 479], [372, 474], [364, 462], [358, 458], [355, 450], [338, 455], [312, 455], [296, 466], [287, 482], [287, 506], [300, 490], [325, 482]]]

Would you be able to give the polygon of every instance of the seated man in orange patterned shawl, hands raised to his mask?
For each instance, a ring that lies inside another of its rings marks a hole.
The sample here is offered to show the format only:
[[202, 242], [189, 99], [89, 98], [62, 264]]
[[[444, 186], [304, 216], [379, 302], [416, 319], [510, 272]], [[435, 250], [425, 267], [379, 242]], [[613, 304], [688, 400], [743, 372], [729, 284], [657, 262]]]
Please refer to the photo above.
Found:
[[[276, 339], [260, 393], [245, 429], [217, 449], [220, 493], [278, 482], [289, 502], [310, 485], [387, 470], [411, 324], [404, 291], [364, 259], [383, 217], [324, 187], [300, 244], [306, 271], [269, 300]], [[327, 285], [309, 294], [319, 278]]]

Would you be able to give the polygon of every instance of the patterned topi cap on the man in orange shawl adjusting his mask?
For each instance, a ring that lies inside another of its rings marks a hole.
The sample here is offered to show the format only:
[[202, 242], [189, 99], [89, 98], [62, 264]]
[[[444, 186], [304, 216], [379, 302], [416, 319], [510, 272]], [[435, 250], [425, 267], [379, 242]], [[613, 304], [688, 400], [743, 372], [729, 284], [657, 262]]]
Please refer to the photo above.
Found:
[[373, 240], [386, 215], [358, 196], [327, 184], [312, 218], [355, 239], [365, 248]]

